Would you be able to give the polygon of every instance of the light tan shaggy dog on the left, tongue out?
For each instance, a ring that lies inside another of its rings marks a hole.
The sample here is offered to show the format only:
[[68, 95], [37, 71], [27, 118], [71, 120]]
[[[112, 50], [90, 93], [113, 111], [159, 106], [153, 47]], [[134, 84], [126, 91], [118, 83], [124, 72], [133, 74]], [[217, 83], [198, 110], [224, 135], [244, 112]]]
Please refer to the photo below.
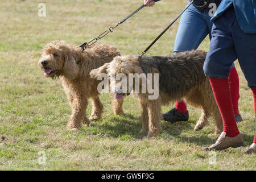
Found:
[[[89, 119], [100, 119], [103, 105], [101, 104], [97, 85], [100, 81], [91, 78], [89, 73], [109, 63], [119, 51], [107, 44], [95, 44], [81, 52], [81, 48], [70, 46], [61, 41], [52, 41], [43, 49], [39, 67], [46, 77], [60, 77], [72, 114], [67, 128], [78, 129], [82, 123], [90, 124]], [[92, 115], [86, 117], [88, 98], [92, 100]], [[113, 100], [114, 114], [123, 114], [122, 100]]]

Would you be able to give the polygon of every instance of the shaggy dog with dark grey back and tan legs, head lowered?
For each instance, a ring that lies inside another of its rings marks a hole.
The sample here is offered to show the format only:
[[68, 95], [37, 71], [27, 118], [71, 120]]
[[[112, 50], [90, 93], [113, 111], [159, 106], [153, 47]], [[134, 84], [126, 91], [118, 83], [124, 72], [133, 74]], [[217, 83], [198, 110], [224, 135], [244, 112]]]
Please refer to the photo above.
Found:
[[[159, 73], [158, 99], [148, 100], [148, 93], [133, 93], [141, 106], [141, 131], [148, 131], [148, 138], [156, 137], [161, 130], [161, 105], [169, 105], [170, 102], [181, 99], [202, 109], [195, 130], [203, 129], [208, 118], [212, 116], [217, 134], [222, 131], [222, 119], [208, 78], [203, 72], [205, 56], [204, 51], [181, 52], [170, 56], [144, 56], [141, 59], [137, 56], [117, 56], [112, 62], [94, 69], [90, 75], [96, 78], [100, 73], [105, 72], [110, 77], [110, 87], [114, 87], [119, 81], [112, 77], [119, 73], [124, 73], [127, 77], [129, 73]], [[129, 86], [127, 88], [129, 89]], [[127, 92], [130, 90], [123, 93]]]

